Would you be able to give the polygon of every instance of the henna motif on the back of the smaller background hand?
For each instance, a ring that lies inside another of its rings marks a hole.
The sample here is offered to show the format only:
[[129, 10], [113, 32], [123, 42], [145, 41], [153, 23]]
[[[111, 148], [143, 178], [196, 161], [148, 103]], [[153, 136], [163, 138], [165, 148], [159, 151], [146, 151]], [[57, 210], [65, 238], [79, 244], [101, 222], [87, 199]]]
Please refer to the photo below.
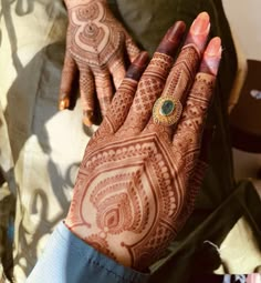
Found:
[[103, 69], [122, 52], [125, 34], [119, 23], [104, 3], [92, 1], [87, 6], [76, 6], [69, 10], [71, 19], [70, 34], [73, 41], [69, 42], [69, 50], [80, 62], [88, 63], [91, 68]]

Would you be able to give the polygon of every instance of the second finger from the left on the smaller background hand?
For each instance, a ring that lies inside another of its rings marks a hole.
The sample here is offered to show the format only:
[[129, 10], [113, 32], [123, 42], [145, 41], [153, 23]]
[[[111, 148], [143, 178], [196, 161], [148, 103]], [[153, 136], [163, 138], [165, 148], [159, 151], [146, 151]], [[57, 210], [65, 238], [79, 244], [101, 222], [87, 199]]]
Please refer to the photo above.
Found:
[[83, 109], [83, 123], [87, 127], [93, 124], [94, 113], [94, 81], [88, 68], [80, 69], [80, 92]]

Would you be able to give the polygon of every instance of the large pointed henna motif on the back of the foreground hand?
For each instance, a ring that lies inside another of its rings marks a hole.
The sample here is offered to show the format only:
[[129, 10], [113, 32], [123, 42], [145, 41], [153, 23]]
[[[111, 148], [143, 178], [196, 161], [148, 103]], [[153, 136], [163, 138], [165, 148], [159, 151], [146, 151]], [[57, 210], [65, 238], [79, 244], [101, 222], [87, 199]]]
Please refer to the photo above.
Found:
[[[85, 155], [81, 165], [74, 190], [82, 202], [71, 206], [70, 214], [79, 218], [72, 221], [71, 229], [81, 231], [88, 223], [86, 241], [90, 233], [96, 234], [107, 241], [108, 250], [118, 245], [118, 261], [123, 253], [125, 259], [128, 254], [127, 265], [147, 266], [160, 255], [166, 239], [176, 235], [175, 221], [186, 191], [175, 163], [173, 150], [157, 134], [124, 143], [118, 139], [109, 145], [104, 141], [98, 150]], [[77, 211], [72, 211], [75, 208]], [[149, 254], [150, 249], [156, 257]]]

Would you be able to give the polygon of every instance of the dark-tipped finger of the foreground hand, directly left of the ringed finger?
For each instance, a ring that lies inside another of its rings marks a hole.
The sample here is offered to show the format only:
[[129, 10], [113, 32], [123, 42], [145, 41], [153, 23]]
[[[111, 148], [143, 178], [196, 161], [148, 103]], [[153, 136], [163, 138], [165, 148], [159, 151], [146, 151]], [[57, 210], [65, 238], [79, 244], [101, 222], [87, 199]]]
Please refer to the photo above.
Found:
[[185, 29], [182, 21], [176, 22], [164, 37], [138, 83], [123, 131], [140, 132], [146, 125], [152, 115], [153, 104], [163, 91]]

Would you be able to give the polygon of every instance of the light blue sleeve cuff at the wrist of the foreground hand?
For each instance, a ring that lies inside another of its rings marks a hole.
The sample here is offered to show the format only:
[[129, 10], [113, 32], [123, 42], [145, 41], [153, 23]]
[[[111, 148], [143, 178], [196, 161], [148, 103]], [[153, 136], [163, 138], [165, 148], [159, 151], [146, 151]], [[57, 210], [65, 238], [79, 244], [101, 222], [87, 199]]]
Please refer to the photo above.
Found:
[[148, 277], [101, 254], [60, 223], [25, 283], [144, 283]]

